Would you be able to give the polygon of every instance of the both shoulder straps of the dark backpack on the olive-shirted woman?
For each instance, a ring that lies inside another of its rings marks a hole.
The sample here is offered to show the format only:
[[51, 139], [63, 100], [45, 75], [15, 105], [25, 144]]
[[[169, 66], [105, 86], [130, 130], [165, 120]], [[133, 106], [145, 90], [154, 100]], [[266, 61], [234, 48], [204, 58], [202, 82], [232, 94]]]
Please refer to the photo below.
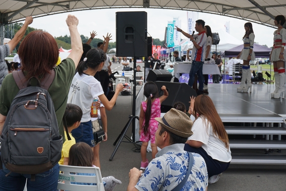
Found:
[[[22, 71], [13, 71], [13, 78], [20, 90], [24, 89], [28, 85], [28, 81], [25, 79], [25, 75]], [[51, 70], [51, 74], [46, 74], [45, 78], [41, 82], [41, 87], [48, 90], [55, 78], [55, 70]]]

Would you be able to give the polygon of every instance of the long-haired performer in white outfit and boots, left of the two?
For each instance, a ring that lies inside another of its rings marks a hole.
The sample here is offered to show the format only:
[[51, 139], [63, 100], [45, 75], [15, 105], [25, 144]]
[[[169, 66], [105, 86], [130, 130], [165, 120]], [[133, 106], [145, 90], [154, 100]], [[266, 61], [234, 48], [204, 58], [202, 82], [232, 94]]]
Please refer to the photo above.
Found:
[[[237, 59], [243, 60], [242, 65], [242, 77], [241, 77], [241, 84], [240, 87], [237, 88], [237, 92], [251, 92], [251, 72], [250, 72], [250, 66], [249, 61], [255, 60], [255, 54], [253, 52], [253, 44], [254, 44], [254, 32], [252, 29], [251, 22], [247, 22], [244, 24], [245, 34], [243, 36], [243, 43], [244, 47], [242, 51], [237, 56]], [[245, 81], [247, 83], [245, 84]]]

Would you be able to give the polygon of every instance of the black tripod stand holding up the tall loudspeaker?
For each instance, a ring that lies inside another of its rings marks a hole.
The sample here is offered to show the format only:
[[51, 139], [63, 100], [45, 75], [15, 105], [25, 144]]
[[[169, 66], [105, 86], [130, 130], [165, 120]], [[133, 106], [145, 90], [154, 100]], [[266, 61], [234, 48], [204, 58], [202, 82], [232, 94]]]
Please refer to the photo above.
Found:
[[[113, 160], [113, 157], [117, 151], [117, 149], [119, 148], [121, 142], [126, 142], [126, 143], [138, 143], [140, 141], [135, 141], [135, 120], [138, 119], [139, 117], [136, 116], [135, 114], [135, 110], [136, 110], [136, 57], [134, 56], [134, 62], [133, 62], [133, 107], [132, 107], [132, 115], [129, 115], [129, 120], [126, 123], [126, 125], [124, 126], [124, 128], [122, 129], [121, 133], [118, 135], [117, 139], [115, 140], [115, 142], [113, 143], [113, 145], [115, 146], [117, 141], [119, 140], [118, 144], [116, 145], [111, 157], [109, 158], [109, 161]], [[130, 126], [130, 124], [132, 123], [132, 139], [129, 138], [126, 135], [126, 132]], [[126, 138], [128, 141], [122, 141], [123, 138]]]

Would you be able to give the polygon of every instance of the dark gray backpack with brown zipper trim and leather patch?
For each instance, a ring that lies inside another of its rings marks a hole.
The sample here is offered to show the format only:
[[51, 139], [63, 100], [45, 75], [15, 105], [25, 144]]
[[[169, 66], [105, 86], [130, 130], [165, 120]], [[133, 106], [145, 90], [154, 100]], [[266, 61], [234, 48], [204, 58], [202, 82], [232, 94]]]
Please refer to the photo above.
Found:
[[61, 159], [63, 137], [47, 91], [55, 71], [45, 76], [33, 87], [33, 77], [26, 81], [22, 71], [13, 71], [20, 91], [11, 103], [1, 134], [1, 159], [10, 172], [35, 175], [53, 168]]

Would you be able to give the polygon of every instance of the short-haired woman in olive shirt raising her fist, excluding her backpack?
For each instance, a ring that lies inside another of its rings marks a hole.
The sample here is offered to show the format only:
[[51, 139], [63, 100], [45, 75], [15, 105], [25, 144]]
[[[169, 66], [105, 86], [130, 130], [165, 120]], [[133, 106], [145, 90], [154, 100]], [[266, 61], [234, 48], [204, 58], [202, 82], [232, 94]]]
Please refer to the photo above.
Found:
[[[63, 116], [66, 110], [68, 100], [68, 90], [71, 86], [71, 80], [75, 73], [79, 59], [82, 55], [82, 43], [77, 31], [78, 19], [69, 15], [67, 25], [71, 33], [71, 53], [67, 59], [55, 67], [59, 50], [55, 38], [44, 31], [33, 31], [29, 33], [22, 41], [19, 47], [19, 57], [21, 59], [22, 71], [25, 75], [25, 81], [31, 77], [31, 86], [36, 86], [37, 80], [42, 81], [48, 73], [55, 71], [55, 78], [48, 89], [51, 95], [57, 116], [60, 134], [64, 135]], [[12, 74], [8, 74], [2, 83], [0, 89], [0, 133], [8, 114], [13, 98], [19, 92], [19, 88], [14, 81]], [[35, 137], [37, 138], [37, 137]], [[27, 188], [30, 191], [56, 191], [59, 179], [59, 164], [52, 169], [36, 174], [36, 180], [31, 182], [31, 175], [12, 173], [7, 169], [0, 170], [0, 190], [24, 190], [27, 180]], [[9, 176], [5, 176], [9, 175]], [[7, 189], [8, 187], [8, 189]]]

